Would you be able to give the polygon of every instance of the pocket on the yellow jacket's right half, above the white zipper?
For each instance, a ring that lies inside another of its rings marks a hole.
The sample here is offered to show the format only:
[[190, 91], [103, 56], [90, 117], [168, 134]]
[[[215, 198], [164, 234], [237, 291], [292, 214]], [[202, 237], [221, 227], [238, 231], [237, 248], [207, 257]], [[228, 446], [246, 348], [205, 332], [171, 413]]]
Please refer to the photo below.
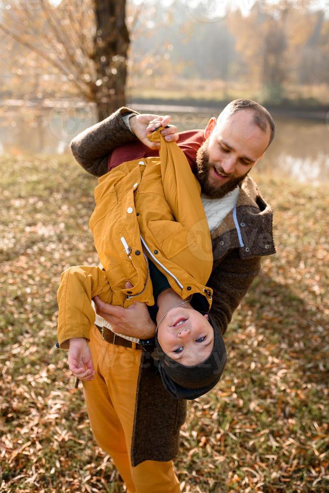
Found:
[[180, 222], [149, 221], [147, 225], [167, 259], [172, 259], [196, 241], [193, 231]]

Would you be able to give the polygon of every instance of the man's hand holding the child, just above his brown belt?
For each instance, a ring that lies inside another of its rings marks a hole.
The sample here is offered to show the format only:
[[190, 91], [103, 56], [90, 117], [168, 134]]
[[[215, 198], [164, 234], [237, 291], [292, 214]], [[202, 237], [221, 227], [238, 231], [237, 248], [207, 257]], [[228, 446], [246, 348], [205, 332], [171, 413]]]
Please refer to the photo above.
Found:
[[[127, 282], [126, 288], [132, 285]], [[123, 336], [136, 337], [138, 339], [147, 339], [154, 337], [155, 323], [149, 316], [146, 303], [135, 303], [128, 308], [113, 306], [104, 303], [98, 296], [93, 298], [95, 301], [96, 313], [107, 320], [115, 333]]]

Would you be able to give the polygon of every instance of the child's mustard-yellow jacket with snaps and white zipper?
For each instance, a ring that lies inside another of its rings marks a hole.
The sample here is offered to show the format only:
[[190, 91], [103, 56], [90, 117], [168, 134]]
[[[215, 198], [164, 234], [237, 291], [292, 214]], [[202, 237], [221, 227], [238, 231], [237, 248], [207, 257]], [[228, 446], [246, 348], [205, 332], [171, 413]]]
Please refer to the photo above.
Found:
[[[124, 162], [99, 179], [96, 207], [90, 219], [104, 270], [73, 267], [58, 290], [58, 341], [86, 337], [95, 313], [91, 298], [124, 307], [134, 301], [154, 304], [149, 259], [166, 275], [182, 299], [203, 294], [213, 257], [200, 184], [183, 151], [166, 142], [161, 128], [149, 138], [160, 141], [159, 157]], [[130, 281], [132, 288], [126, 289]]]

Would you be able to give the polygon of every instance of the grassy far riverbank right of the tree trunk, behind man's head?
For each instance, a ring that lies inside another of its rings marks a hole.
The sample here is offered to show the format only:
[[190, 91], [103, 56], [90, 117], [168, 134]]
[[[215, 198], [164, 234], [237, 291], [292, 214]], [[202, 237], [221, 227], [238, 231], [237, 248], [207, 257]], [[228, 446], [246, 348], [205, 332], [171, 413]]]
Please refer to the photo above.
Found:
[[126, 94], [127, 101], [135, 105], [192, 107], [192, 111], [206, 108], [215, 113], [234, 99], [249, 98], [264, 105], [274, 116], [316, 121], [325, 121], [329, 110], [329, 86], [326, 84], [286, 84], [274, 95], [255, 85], [218, 79], [177, 77], [173, 84], [167, 75], [153, 76], [152, 84], [145, 84], [138, 78], [128, 81]]

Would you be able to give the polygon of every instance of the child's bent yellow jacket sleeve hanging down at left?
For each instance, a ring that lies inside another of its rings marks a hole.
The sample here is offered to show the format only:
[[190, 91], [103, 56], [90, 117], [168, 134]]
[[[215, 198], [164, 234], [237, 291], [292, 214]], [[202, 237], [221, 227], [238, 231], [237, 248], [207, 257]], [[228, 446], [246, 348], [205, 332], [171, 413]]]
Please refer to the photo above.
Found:
[[102, 269], [78, 266], [62, 273], [57, 291], [57, 336], [61, 349], [68, 349], [68, 340], [73, 337], [89, 340], [90, 327], [96, 318], [92, 307], [94, 296], [112, 302], [112, 288]]

